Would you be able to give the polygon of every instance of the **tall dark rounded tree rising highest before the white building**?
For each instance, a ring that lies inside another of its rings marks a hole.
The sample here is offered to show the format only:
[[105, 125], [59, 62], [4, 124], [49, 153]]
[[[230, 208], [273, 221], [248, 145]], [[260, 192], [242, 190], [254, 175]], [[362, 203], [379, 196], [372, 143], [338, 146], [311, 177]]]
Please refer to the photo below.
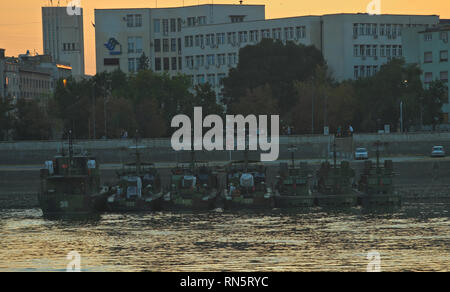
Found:
[[318, 65], [325, 66], [325, 61], [314, 46], [263, 39], [240, 49], [237, 68], [224, 79], [224, 103], [238, 103], [247, 89], [268, 84], [284, 118], [295, 103], [294, 81], [307, 80]]

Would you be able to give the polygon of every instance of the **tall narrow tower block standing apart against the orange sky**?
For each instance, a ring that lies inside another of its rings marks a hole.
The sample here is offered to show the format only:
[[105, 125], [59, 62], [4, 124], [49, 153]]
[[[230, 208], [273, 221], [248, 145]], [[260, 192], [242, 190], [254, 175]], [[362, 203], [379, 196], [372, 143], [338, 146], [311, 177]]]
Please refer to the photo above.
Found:
[[44, 55], [70, 64], [75, 77], [84, 76], [83, 9], [69, 15], [67, 7], [42, 7]]

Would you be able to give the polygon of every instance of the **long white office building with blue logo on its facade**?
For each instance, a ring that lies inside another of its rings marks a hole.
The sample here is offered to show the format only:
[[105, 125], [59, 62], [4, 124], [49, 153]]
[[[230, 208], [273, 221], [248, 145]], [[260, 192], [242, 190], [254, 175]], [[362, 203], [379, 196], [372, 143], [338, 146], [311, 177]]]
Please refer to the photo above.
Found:
[[155, 72], [192, 83], [221, 82], [236, 67], [239, 49], [263, 38], [314, 45], [337, 80], [371, 76], [401, 57], [402, 30], [439, 23], [435, 15], [333, 14], [265, 19], [262, 5], [96, 10], [97, 72], [138, 70], [142, 53]]

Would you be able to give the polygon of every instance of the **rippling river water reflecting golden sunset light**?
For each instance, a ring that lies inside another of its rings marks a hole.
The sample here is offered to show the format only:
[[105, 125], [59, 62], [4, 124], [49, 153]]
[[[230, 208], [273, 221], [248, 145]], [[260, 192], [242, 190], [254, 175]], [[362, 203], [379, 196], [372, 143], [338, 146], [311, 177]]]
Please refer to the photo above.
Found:
[[104, 214], [0, 210], [0, 271], [449, 271], [450, 204], [396, 210]]

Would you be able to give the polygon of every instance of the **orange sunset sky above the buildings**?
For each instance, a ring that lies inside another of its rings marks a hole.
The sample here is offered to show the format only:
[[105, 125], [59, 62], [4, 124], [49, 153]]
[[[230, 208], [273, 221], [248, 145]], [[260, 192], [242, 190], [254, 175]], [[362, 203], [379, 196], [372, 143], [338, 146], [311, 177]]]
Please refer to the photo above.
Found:
[[[239, 0], [80, 0], [84, 9], [84, 38], [86, 74], [95, 74], [94, 9], [154, 8], [198, 4], [238, 4]], [[381, 13], [436, 14], [450, 19], [449, 0], [380, 0]], [[27, 50], [41, 54], [41, 7], [49, 0], [2, 0], [0, 4], [0, 48], [8, 56], [17, 56]], [[61, 6], [70, 1], [60, 0]], [[244, 4], [265, 4], [266, 18], [280, 18], [330, 13], [365, 13], [371, 0], [244, 0]], [[58, 0], [53, 0], [58, 3]]]

